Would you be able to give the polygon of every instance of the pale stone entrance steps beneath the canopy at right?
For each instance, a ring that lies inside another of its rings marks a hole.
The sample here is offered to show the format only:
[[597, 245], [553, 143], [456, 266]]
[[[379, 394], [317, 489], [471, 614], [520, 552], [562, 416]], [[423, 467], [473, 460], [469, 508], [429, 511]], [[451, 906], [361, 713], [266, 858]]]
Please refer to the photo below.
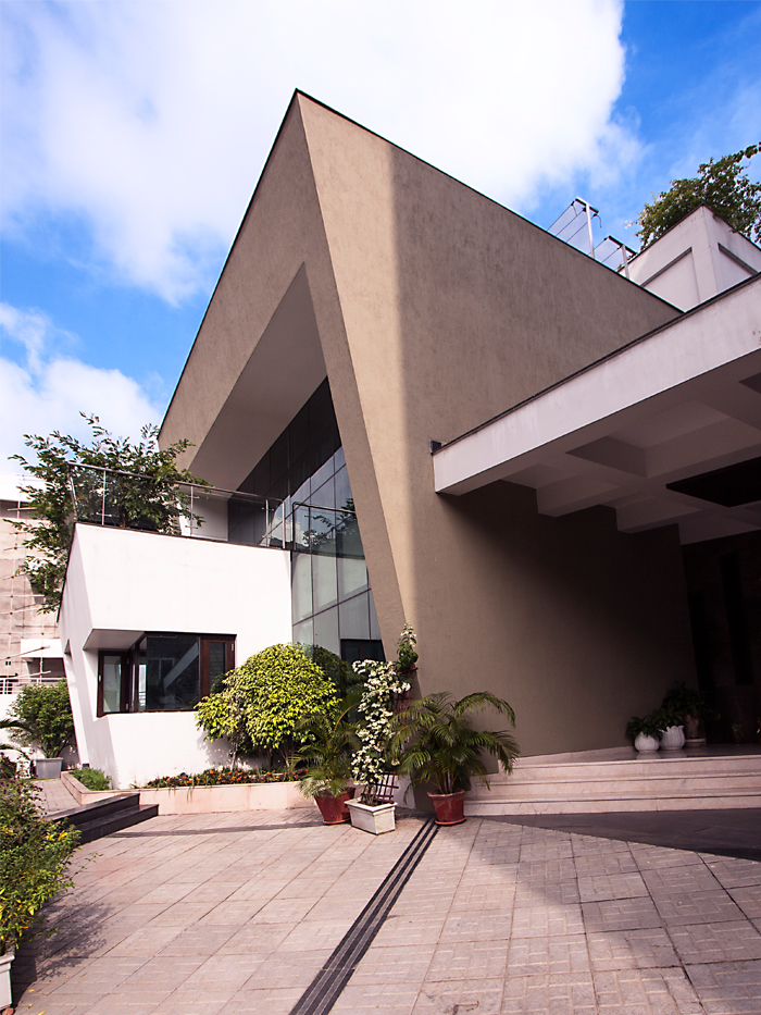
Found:
[[761, 751], [697, 748], [636, 755], [628, 748], [521, 758], [511, 776], [474, 785], [466, 815], [602, 814], [761, 807]]

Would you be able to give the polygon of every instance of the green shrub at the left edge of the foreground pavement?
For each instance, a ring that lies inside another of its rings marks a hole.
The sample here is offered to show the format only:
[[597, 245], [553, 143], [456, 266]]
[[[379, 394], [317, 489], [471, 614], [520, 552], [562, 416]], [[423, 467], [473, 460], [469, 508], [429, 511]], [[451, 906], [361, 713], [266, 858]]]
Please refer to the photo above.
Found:
[[0, 954], [22, 938], [52, 933], [40, 909], [72, 888], [66, 867], [79, 832], [46, 820], [38, 792], [28, 781], [0, 780]]

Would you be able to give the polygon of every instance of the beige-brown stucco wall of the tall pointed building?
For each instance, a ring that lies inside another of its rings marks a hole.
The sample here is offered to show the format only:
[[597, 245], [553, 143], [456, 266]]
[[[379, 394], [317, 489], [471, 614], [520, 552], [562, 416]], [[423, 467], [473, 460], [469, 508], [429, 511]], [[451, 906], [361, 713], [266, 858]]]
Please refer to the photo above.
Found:
[[[658, 705], [671, 679], [691, 679], [675, 537], [622, 535], [606, 511], [539, 518], [533, 493], [504, 483], [440, 497], [428, 442], [451, 440], [676, 311], [297, 97], [162, 440], [188, 435], [202, 454], [301, 263], [387, 653], [402, 622], [413, 623], [421, 690], [503, 694], [526, 753], [621, 743], [632, 711]], [[227, 343], [234, 356], [221, 370], [215, 350]], [[199, 407], [212, 364], [213, 391]], [[287, 374], [288, 360], [280, 366]], [[244, 429], [265, 424], [263, 410], [248, 411]], [[241, 465], [241, 478], [254, 463]]]

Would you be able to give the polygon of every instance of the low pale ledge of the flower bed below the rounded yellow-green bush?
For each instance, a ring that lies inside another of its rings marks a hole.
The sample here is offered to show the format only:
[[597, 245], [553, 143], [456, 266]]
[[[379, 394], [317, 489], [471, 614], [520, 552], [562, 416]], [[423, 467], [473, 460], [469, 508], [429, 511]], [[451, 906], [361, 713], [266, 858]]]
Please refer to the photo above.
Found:
[[159, 814], [214, 814], [236, 810], [288, 810], [313, 807], [298, 782], [251, 782], [140, 790], [141, 804], [158, 804]]

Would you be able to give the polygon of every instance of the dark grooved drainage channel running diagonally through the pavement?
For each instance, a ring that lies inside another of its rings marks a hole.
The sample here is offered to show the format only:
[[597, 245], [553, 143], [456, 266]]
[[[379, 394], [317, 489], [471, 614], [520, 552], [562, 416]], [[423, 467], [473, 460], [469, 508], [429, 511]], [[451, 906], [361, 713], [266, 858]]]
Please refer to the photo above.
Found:
[[330, 1011], [437, 831], [438, 826], [433, 818], [427, 818], [340, 944], [296, 1002], [290, 1015], [326, 1015]]

